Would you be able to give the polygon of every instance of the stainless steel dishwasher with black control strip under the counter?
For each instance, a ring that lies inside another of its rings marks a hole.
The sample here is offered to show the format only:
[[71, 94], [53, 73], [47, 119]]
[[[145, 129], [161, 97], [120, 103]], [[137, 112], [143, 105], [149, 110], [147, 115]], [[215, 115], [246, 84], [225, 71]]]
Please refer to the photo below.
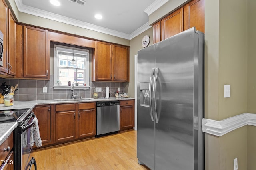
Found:
[[120, 130], [119, 101], [96, 102], [96, 137]]

